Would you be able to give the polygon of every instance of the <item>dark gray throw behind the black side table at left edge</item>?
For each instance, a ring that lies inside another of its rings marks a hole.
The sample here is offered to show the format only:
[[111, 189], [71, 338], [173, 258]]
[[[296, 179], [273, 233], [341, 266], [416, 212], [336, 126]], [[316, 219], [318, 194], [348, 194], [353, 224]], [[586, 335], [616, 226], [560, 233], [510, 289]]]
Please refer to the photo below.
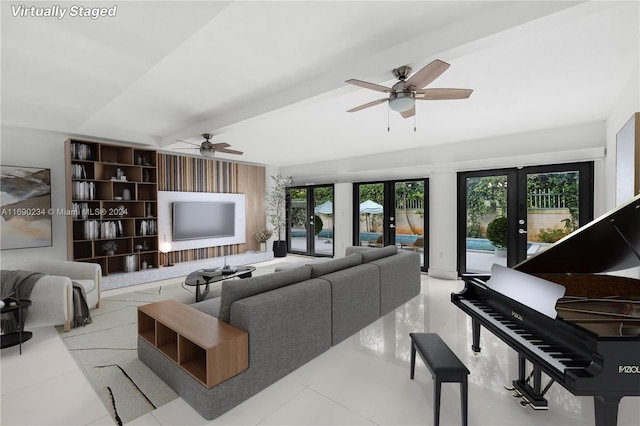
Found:
[[[31, 290], [44, 274], [31, 271], [0, 271], [0, 297], [2, 300], [18, 299], [28, 300]], [[6, 302], [5, 302], [6, 303]], [[18, 324], [18, 312], [12, 312], [2, 316], [2, 332], [12, 333], [24, 327], [27, 310], [22, 310], [22, 321]], [[12, 315], [13, 314], [13, 315]], [[5, 318], [6, 316], [6, 318]]]

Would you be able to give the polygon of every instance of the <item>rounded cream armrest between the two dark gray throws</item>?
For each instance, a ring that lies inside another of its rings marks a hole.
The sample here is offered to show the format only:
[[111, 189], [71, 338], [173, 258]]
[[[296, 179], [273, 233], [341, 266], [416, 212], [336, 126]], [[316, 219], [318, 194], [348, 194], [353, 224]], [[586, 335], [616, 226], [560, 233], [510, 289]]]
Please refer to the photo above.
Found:
[[71, 279], [68, 277], [41, 277], [29, 296], [31, 306], [27, 311], [25, 328], [64, 325], [65, 331], [69, 331], [73, 316], [71, 293]]

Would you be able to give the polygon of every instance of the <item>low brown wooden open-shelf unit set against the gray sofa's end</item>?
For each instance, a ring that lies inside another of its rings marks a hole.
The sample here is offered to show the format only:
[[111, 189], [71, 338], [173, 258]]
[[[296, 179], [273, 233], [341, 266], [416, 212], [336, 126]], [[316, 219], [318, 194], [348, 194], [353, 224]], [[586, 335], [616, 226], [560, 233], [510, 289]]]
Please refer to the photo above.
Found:
[[249, 367], [249, 336], [175, 300], [138, 307], [138, 335], [207, 388]]

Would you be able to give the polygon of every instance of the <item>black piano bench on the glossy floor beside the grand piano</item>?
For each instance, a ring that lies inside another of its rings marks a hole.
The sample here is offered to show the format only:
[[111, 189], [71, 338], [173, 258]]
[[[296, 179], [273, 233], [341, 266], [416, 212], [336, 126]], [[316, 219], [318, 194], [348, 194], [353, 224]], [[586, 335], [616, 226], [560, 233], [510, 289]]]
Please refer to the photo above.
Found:
[[411, 337], [411, 379], [416, 370], [416, 352], [431, 371], [434, 382], [433, 416], [434, 425], [440, 424], [440, 388], [442, 383], [460, 383], [462, 405], [462, 424], [467, 425], [468, 418], [468, 381], [469, 370], [456, 354], [436, 333], [409, 333]]

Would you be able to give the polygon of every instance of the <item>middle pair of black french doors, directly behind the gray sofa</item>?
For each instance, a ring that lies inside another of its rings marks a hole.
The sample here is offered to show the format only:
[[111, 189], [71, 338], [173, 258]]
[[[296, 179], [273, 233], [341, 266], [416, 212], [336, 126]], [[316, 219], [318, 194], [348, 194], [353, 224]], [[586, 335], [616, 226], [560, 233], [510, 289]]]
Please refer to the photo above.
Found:
[[413, 250], [426, 270], [428, 180], [356, 183], [353, 194], [353, 244]]

